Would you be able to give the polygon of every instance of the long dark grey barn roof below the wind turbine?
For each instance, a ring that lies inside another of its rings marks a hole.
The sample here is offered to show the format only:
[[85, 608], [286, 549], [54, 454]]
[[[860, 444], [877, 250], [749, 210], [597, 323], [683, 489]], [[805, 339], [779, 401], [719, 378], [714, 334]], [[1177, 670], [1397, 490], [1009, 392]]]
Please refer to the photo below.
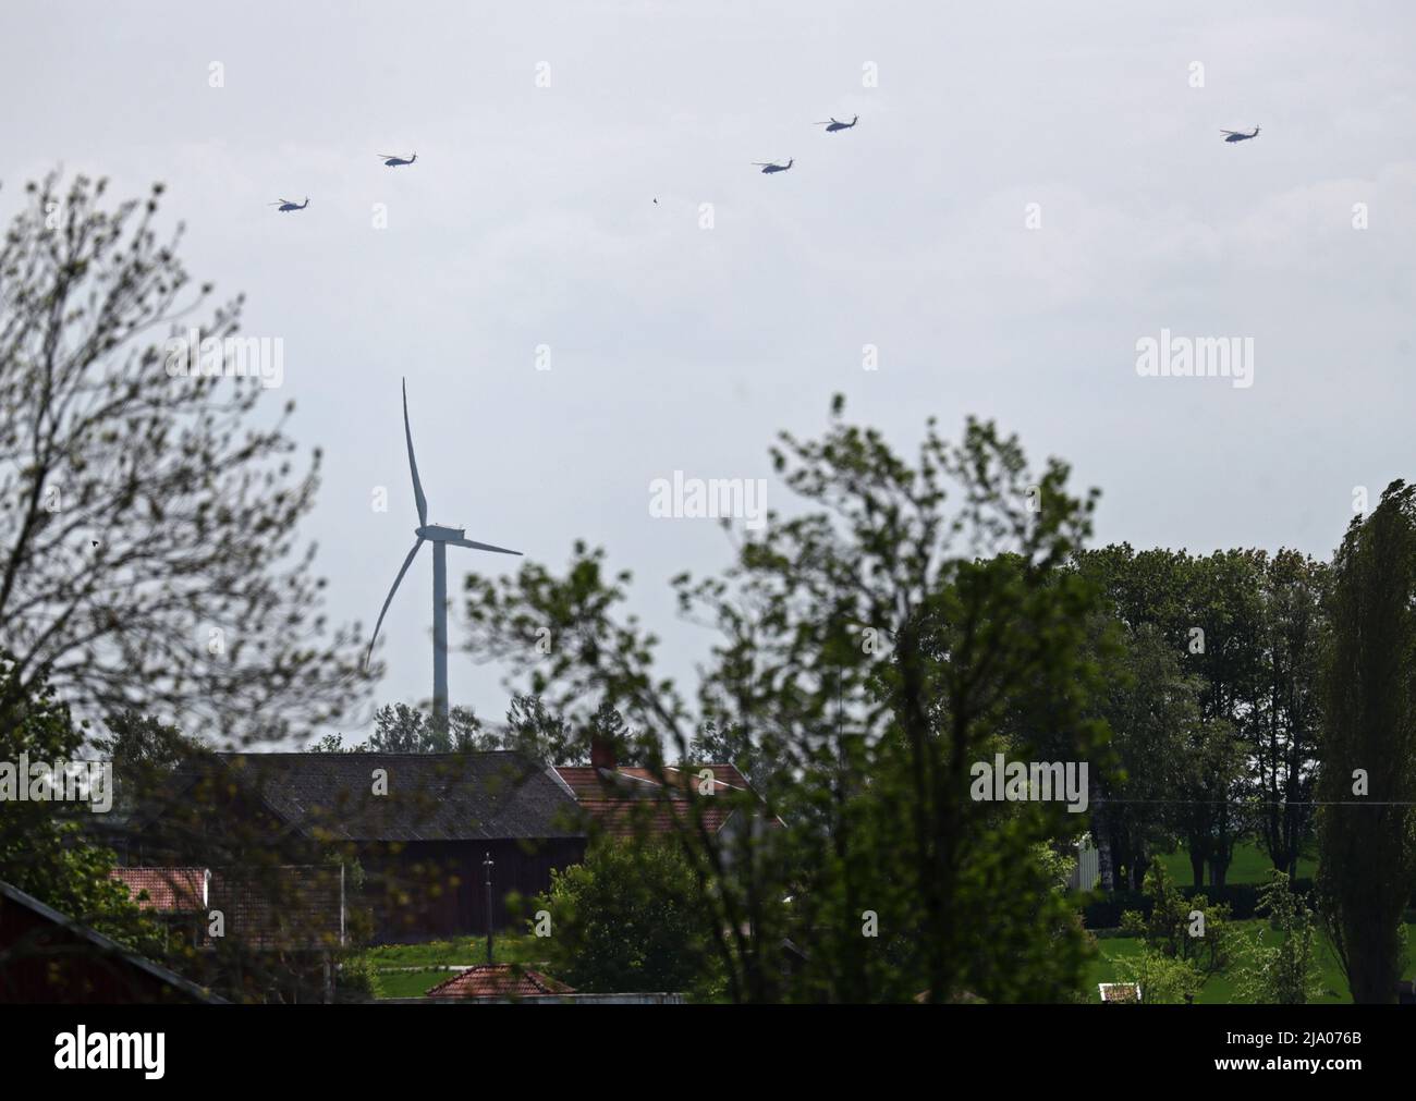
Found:
[[[545, 766], [493, 753], [219, 753], [304, 835], [340, 841], [575, 838], [576, 802]], [[375, 794], [387, 777], [388, 794]]]

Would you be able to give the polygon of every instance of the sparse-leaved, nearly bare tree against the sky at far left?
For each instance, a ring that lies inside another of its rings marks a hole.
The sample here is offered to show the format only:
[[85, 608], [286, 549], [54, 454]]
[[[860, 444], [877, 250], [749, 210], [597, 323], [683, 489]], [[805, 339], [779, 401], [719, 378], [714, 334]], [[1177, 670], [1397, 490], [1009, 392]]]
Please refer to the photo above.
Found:
[[161, 184], [109, 209], [105, 184], [28, 184], [0, 246], [0, 727], [47, 674], [81, 717], [282, 737], [360, 678], [357, 631], [327, 627], [296, 548], [320, 456], [292, 473], [293, 403], [256, 426], [270, 379], [232, 362], [241, 297], [198, 330], [215, 361], [174, 362], [212, 287], [177, 259], [180, 225], [159, 239]]

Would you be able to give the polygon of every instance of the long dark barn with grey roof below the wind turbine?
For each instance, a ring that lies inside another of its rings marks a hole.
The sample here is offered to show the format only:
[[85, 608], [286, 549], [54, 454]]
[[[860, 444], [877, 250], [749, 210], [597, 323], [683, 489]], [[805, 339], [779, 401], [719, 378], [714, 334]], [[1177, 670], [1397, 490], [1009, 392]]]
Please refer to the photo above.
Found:
[[489, 876], [504, 928], [586, 845], [571, 788], [514, 751], [210, 753], [126, 826], [129, 867], [357, 865], [375, 943], [486, 933]]

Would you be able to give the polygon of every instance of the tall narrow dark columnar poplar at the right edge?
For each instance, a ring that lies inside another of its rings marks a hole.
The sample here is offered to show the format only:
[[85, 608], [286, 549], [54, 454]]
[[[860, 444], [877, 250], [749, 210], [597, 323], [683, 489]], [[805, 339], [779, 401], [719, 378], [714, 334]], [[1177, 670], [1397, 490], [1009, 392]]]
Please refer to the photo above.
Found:
[[1416, 485], [1332, 560], [1318, 776], [1320, 911], [1357, 1002], [1395, 1002], [1416, 883]]

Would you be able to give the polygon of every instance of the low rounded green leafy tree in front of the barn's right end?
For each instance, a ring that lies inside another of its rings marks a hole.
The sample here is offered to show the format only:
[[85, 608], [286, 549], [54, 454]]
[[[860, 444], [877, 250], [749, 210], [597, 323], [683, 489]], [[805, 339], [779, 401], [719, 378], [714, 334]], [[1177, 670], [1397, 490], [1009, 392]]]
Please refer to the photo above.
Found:
[[534, 909], [551, 916], [537, 941], [547, 969], [578, 991], [707, 989], [708, 910], [671, 843], [600, 838], [583, 863], [552, 872]]

